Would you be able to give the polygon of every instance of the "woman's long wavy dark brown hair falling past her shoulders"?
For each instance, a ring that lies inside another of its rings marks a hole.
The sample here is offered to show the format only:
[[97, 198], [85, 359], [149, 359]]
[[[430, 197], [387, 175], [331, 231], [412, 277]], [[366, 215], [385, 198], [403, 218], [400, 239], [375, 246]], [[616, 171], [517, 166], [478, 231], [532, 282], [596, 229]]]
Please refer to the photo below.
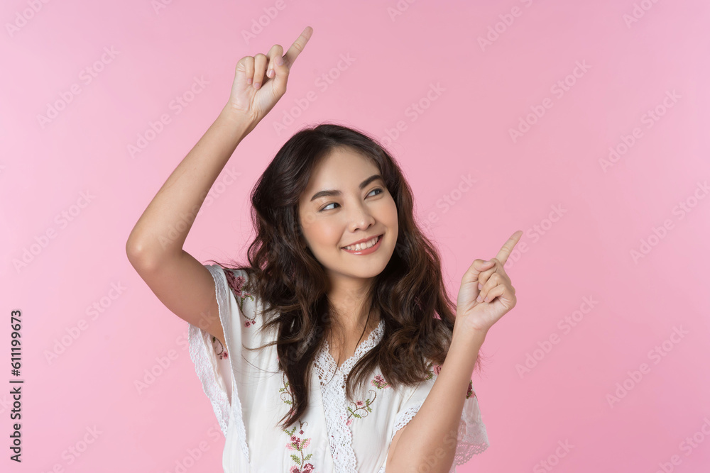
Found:
[[[444, 363], [452, 340], [456, 305], [444, 287], [441, 257], [415, 222], [412, 191], [393, 157], [376, 139], [353, 128], [323, 123], [298, 131], [251, 191], [256, 237], [247, 252], [249, 264], [215, 262], [249, 274], [243, 289], [263, 302], [262, 330], [278, 332], [276, 340], [249, 350], [277, 345], [278, 365], [293, 395], [290, 412], [280, 419], [284, 428], [307, 410], [310, 367], [334, 330], [327, 315], [336, 313], [327, 298], [329, 279], [305, 244], [298, 202], [312, 170], [335, 149], [359, 153], [378, 167], [397, 206], [399, 227], [395, 251], [365, 297], [384, 320], [383, 337], [352, 367], [347, 398], [376, 367], [393, 389], [427, 379], [432, 363]], [[479, 353], [474, 371], [480, 368]]]

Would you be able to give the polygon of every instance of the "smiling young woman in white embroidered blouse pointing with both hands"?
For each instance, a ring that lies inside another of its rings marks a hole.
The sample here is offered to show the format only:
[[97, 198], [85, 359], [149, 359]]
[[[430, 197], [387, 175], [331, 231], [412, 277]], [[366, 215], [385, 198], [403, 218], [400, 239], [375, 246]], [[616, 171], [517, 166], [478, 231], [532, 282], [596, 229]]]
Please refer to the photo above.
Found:
[[228, 103], [126, 253], [189, 323], [226, 436], [224, 472], [455, 471], [488, 447], [471, 373], [488, 329], [515, 306], [503, 265], [522, 232], [474, 260], [454, 305], [393, 158], [364, 133], [322, 124], [293, 135], [254, 187], [249, 265], [202, 265], [182, 250], [311, 35], [285, 55], [274, 45], [239, 60]]

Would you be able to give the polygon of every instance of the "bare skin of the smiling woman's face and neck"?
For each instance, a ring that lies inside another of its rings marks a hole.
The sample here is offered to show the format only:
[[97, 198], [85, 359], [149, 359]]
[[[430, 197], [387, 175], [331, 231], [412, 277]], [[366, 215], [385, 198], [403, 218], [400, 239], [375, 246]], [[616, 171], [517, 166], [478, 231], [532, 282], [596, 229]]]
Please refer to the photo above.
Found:
[[[341, 336], [329, 340], [338, 364], [356, 350], [368, 316], [364, 294], [373, 278], [385, 269], [397, 242], [397, 206], [382, 179], [359, 188], [373, 174], [380, 172], [371, 160], [348, 148], [338, 148], [318, 163], [299, 199], [303, 238], [328, 274], [331, 287], [327, 296], [340, 313], [334, 314], [334, 325], [340, 328]], [[342, 194], [311, 200], [323, 190], [340, 190]], [[342, 249], [375, 235], [383, 236], [378, 250], [370, 255], [352, 255]], [[374, 313], [364, 338], [378, 322]]]

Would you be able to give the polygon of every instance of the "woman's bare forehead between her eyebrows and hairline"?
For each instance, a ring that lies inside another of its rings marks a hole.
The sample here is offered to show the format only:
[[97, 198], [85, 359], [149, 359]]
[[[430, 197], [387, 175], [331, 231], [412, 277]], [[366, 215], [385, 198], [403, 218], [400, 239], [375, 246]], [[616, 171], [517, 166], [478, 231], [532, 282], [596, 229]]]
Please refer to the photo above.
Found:
[[346, 148], [333, 150], [313, 169], [302, 199], [310, 199], [312, 194], [322, 190], [347, 192], [358, 189], [358, 185], [379, 169], [368, 157]]

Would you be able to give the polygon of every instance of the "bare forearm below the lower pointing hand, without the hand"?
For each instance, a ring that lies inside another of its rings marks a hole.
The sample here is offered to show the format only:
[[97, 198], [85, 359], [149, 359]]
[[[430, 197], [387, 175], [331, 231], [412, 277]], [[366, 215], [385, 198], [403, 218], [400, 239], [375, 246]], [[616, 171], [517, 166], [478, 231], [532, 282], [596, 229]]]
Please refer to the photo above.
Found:
[[432, 458], [437, 462], [430, 472], [449, 472], [471, 373], [485, 338], [485, 333], [469, 336], [454, 330], [446, 360], [427, 399], [392, 439], [388, 473], [418, 472]]

